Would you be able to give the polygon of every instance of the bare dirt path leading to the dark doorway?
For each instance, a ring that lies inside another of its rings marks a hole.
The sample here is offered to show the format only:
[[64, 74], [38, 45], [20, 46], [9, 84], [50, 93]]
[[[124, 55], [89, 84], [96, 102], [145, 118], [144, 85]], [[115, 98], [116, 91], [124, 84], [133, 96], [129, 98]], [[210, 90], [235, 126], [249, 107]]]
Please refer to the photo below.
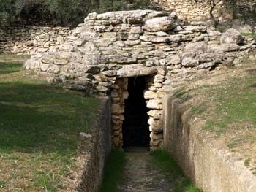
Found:
[[171, 191], [170, 179], [152, 163], [149, 152], [127, 152], [124, 180], [118, 185], [123, 192]]

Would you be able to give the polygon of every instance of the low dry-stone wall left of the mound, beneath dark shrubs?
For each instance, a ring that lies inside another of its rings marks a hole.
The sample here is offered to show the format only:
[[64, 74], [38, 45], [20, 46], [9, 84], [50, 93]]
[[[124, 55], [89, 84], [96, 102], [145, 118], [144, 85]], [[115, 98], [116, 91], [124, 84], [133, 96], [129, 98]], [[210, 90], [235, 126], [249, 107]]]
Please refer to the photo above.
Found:
[[0, 29], [0, 53], [35, 54], [53, 51], [71, 34], [68, 27], [17, 26]]

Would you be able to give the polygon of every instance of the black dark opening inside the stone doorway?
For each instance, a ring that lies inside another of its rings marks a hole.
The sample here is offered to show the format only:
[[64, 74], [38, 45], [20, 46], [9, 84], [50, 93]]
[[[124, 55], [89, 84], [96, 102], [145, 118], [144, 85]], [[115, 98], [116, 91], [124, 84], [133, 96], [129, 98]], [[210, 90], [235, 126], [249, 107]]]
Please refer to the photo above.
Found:
[[149, 126], [146, 100], [143, 91], [146, 88], [145, 77], [129, 77], [129, 97], [125, 100], [123, 123], [123, 147], [149, 147]]

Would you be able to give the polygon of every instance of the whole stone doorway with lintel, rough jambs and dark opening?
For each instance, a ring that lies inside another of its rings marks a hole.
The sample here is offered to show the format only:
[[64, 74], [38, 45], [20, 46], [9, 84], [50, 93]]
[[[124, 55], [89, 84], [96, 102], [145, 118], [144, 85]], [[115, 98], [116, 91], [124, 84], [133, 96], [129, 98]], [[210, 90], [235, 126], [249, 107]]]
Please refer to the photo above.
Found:
[[[129, 68], [131, 69], [131, 68]], [[161, 70], [120, 73], [113, 84], [112, 146], [162, 147], [162, 88], [159, 85]], [[139, 74], [139, 75], [135, 75]]]

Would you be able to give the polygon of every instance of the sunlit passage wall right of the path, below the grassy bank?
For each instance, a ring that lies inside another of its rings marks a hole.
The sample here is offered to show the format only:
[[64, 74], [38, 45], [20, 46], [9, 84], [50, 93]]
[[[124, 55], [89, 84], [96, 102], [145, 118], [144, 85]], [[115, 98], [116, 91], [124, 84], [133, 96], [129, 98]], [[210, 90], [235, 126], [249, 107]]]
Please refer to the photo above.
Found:
[[165, 148], [198, 187], [205, 192], [256, 191], [252, 170], [241, 157], [203, 131], [203, 123], [191, 118], [184, 101], [169, 95], [164, 105]]

